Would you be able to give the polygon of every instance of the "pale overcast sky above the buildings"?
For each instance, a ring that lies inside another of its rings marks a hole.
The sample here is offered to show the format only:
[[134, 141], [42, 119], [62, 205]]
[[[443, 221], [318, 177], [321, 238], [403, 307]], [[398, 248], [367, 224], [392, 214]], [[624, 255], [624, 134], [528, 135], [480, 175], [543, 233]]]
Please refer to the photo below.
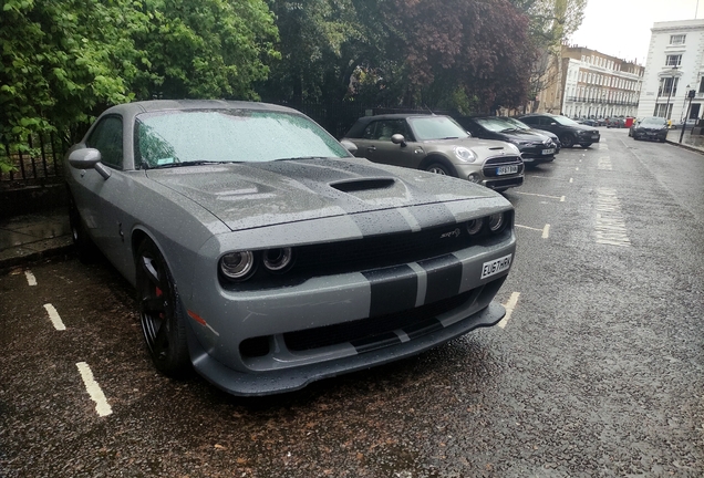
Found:
[[704, 0], [587, 0], [570, 44], [644, 65], [653, 23], [695, 18], [704, 19]]

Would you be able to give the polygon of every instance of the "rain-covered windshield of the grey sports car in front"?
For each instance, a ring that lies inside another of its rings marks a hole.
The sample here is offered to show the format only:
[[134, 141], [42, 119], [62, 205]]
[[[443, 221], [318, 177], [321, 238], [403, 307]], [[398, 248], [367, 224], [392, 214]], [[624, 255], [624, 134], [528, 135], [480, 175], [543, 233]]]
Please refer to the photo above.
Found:
[[263, 163], [348, 157], [340, 143], [306, 116], [248, 110], [144, 113], [135, 159], [145, 168], [204, 163]]

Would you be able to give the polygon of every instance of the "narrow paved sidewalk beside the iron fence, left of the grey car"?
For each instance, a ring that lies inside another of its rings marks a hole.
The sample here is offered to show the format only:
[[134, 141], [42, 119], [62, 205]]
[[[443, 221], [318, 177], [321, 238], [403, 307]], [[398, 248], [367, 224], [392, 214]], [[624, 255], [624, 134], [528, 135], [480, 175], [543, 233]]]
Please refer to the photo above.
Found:
[[70, 252], [69, 209], [0, 219], [0, 270]]

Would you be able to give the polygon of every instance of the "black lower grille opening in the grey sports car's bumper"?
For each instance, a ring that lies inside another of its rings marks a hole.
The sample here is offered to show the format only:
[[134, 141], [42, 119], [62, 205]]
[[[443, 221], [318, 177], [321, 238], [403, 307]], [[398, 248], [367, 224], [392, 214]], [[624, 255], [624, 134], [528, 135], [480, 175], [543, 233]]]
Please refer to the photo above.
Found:
[[[427, 324], [426, 328], [418, 328], [418, 325], [428, 319], [434, 319], [460, 306], [472, 299], [473, 293], [476, 294], [475, 291], [468, 291], [449, 299], [387, 315], [290, 332], [283, 334], [283, 340], [289, 350], [300, 352], [346, 342], [374, 342], [374, 337], [382, 341], [385, 334], [398, 329], [431, 331], [433, 329], [431, 324]], [[438, 323], [437, 325], [439, 328]]]

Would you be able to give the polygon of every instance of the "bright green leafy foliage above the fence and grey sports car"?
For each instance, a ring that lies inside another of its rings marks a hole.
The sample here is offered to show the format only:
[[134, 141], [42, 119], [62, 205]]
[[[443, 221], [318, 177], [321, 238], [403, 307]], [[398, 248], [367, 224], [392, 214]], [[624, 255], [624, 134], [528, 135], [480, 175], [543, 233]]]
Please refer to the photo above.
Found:
[[[1, 0], [0, 141], [77, 139], [107, 106], [256, 98], [277, 56], [263, 0]], [[7, 169], [9, 165], [0, 165]]]

